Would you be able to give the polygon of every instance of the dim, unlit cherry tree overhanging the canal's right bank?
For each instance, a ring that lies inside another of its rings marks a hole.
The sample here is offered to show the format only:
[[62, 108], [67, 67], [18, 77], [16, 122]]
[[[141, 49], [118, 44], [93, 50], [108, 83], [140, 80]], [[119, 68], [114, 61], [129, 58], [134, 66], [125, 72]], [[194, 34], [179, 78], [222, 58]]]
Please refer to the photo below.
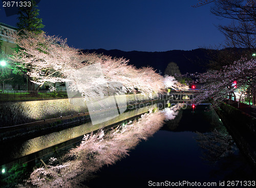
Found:
[[[193, 99], [192, 103], [200, 104], [210, 100], [213, 105], [231, 96], [232, 93], [241, 87], [253, 88], [253, 104], [256, 102], [256, 60], [241, 58], [233, 64], [223, 66], [221, 70], [209, 70], [207, 73], [191, 74], [198, 78], [199, 83], [205, 85]], [[237, 85], [232, 86], [236, 81]], [[251, 89], [252, 90], [252, 89]]]

